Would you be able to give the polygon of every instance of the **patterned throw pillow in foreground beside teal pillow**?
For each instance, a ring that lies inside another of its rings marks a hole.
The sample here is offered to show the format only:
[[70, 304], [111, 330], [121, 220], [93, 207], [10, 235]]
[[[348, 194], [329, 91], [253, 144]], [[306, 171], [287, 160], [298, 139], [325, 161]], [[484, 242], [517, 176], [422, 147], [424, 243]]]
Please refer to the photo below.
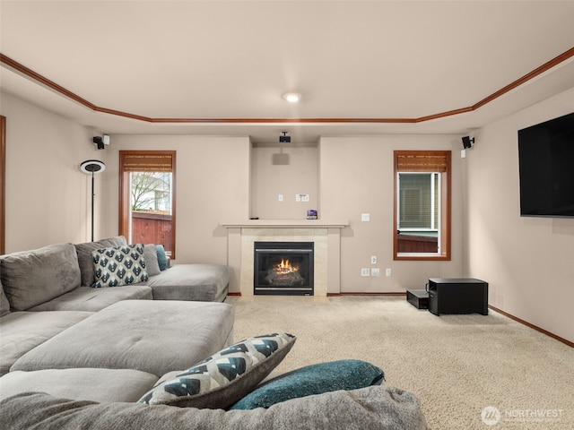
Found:
[[295, 340], [288, 333], [242, 340], [153, 387], [138, 401], [148, 405], [225, 409], [263, 381], [281, 363]]

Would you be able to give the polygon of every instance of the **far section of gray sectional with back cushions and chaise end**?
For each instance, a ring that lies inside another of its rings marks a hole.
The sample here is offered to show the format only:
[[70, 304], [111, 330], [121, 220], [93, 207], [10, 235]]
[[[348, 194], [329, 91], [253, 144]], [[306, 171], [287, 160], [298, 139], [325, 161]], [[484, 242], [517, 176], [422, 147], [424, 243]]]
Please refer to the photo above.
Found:
[[17, 311], [90, 311], [126, 299], [222, 302], [231, 270], [222, 264], [175, 264], [161, 271], [154, 245], [144, 245], [149, 277], [117, 288], [91, 288], [92, 251], [126, 245], [124, 236], [56, 244], [0, 256], [6, 297]]

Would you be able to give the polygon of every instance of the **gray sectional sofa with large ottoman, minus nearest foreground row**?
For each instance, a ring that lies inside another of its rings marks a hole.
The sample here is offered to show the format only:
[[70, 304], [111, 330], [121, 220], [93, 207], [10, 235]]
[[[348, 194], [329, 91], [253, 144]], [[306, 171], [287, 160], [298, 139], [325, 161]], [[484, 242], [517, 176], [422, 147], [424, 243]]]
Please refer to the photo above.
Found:
[[[117, 236], [0, 256], [0, 375], [103, 367], [159, 378], [230, 345], [233, 307], [219, 303], [228, 267], [176, 264], [161, 271], [155, 245], [145, 245], [147, 280], [91, 288], [92, 251], [122, 245], [125, 237]], [[180, 330], [187, 342], [174, 350]]]

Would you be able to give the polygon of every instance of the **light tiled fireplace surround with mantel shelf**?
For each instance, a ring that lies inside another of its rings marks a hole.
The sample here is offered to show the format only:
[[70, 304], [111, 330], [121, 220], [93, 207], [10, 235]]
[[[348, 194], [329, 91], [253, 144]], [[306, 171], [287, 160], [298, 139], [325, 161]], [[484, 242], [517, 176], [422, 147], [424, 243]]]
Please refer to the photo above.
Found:
[[255, 242], [313, 242], [315, 244], [314, 295], [326, 297], [341, 291], [341, 228], [346, 223], [320, 220], [250, 220], [223, 224], [228, 231], [228, 264], [233, 269], [230, 293], [253, 296]]

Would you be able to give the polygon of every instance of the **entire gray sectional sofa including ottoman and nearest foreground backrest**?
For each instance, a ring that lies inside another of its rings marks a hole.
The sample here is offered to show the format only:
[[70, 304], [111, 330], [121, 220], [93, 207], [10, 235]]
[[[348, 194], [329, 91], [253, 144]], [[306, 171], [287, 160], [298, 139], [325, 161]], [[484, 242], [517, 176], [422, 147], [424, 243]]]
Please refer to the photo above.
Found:
[[[220, 303], [230, 277], [224, 266], [150, 268], [155, 274], [142, 282], [91, 288], [100, 276], [92, 251], [122, 245], [118, 236], [0, 256], [0, 429], [426, 428], [413, 394], [387, 385], [280, 401], [268, 409], [143, 404], [150, 391], [173, 390], [174, 378], [185, 387], [182, 371], [194, 374], [190, 366], [202, 368], [210, 356], [218, 375], [202, 381], [213, 383], [221, 378], [219, 360], [244, 348], [232, 345], [233, 306]], [[153, 251], [142, 251], [148, 267]], [[228, 349], [218, 356], [222, 348]], [[257, 349], [263, 359], [249, 358], [232, 383], [253, 390], [289, 348], [270, 361]], [[236, 369], [238, 362], [230, 363], [222, 374]], [[212, 401], [223, 392], [217, 390], [207, 393]]]

